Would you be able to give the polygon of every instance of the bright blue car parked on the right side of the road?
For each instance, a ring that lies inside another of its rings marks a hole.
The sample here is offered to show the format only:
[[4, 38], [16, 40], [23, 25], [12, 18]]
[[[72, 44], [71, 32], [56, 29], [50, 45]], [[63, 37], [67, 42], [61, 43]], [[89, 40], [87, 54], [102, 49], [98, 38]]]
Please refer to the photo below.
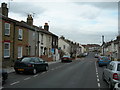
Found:
[[111, 60], [107, 56], [100, 56], [98, 58], [98, 65], [99, 66], [107, 66], [110, 62], [111, 62]]

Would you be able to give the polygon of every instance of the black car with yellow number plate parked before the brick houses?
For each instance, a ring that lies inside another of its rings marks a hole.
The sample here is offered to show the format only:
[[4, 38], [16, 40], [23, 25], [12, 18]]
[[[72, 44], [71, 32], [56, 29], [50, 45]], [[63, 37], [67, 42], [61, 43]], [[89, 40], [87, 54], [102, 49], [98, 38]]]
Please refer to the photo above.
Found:
[[14, 64], [16, 73], [30, 72], [36, 74], [39, 71], [47, 71], [48, 63], [39, 57], [24, 57], [22, 60], [17, 60]]

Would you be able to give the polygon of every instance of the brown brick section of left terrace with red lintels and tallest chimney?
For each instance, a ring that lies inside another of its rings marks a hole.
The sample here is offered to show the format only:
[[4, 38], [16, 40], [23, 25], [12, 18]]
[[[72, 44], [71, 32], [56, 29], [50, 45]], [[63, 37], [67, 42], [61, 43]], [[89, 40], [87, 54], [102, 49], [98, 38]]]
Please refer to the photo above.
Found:
[[6, 3], [2, 3], [2, 61], [4, 66], [11, 66], [13, 62], [28, 55], [28, 27], [19, 21], [8, 17]]

